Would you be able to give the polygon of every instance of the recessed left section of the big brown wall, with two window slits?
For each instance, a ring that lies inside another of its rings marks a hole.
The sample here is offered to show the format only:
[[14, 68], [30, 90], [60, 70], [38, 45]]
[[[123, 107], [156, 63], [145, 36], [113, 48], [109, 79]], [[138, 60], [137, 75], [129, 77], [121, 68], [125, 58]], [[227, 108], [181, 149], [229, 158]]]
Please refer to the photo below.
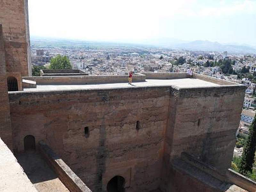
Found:
[[159, 187], [170, 87], [9, 96], [15, 151], [24, 149], [23, 138], [31, 134], [47, 142], [92, 191], [106, 191], [116, 175], [125, 178], [127, 191]]

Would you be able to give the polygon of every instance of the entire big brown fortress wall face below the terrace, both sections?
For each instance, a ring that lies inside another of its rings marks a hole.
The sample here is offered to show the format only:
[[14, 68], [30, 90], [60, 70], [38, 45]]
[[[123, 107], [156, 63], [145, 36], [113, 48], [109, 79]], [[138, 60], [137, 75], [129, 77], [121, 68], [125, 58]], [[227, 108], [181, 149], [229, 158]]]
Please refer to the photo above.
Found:
[[229, 168], [244, 89], [10, 92], [13, 149], [24, 150], [26, 135], [44, 140], [92, 191], [106, 191], [115, 175], [130, 191], [168, 191], [170, 162], [181, 152]]

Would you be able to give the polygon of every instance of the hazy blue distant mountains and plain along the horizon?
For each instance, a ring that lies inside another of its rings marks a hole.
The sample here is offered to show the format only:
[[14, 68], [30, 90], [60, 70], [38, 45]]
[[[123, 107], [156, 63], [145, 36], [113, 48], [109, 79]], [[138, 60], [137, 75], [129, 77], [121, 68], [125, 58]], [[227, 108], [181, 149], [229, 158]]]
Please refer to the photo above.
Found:
[[40, 45], [61, 45], [61, 46], [76, 46], [76, 45], [94, 45], [94, 46], [161, 46], [166, 48], [176, 48], [176, 49], [186, 49], [190, 51], [217, 51], [228, 53], [248, 53], [256, 54], [256, 47], [247, 44], [220, 44], [218, 42], [211, 41], [182, 41], [174, 38], [157, 38], [157, 39], [145, 39], [139, 42], [93, 42], [93, 41], [83, 41], [83, 40], [68, 40], [68, 39], [56, 39], [56, 38], [42, 38], [42, 37], [32, 37], [32, 42], [41, 42]]

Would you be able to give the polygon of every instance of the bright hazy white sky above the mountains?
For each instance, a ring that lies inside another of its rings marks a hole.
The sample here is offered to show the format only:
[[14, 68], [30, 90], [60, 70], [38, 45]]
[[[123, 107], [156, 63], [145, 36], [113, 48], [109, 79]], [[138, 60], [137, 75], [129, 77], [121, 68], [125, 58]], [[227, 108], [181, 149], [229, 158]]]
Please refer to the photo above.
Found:
[[31, 36], [256, 46], [256, 0], [28, 0]]

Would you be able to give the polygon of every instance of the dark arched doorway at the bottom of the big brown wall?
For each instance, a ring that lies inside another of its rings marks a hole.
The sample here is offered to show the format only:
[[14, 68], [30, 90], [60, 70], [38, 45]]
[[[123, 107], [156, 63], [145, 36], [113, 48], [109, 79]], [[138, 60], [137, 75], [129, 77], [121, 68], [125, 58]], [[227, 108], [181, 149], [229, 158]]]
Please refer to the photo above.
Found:
[[125, 179], [122, 176], [115, 176], [108, 181], [107, 191], [108, 192], [124, 192]]

